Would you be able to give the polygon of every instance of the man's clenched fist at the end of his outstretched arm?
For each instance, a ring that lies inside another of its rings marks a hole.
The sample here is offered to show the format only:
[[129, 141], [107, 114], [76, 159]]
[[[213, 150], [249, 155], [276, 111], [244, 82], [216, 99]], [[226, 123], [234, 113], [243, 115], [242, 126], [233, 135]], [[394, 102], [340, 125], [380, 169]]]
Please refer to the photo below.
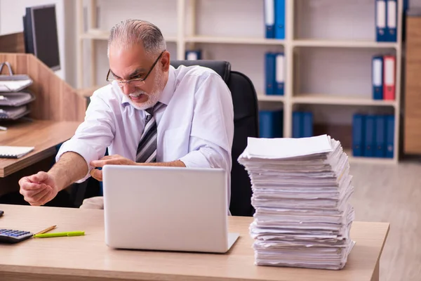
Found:
[[39, 171], [38, 174], [20, 179], [20, 194], [32, 206], [41, 206], [51, 201], [58, 193], [58, 186], [51, 174]]

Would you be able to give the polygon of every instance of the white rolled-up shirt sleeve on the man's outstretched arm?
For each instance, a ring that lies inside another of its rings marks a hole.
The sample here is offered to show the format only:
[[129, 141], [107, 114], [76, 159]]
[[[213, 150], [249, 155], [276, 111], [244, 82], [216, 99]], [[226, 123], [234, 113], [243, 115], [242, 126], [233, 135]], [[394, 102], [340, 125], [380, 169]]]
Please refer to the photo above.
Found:
[[79, 125], [74, 136], [63, 143], [55, 157], [56, 162], [65, 152], [76, 152], [85, 159], [88, 173], [76, 181], [81, 183], [89, 178], [89, 171], [93, 169], [89, 163], [105, 155], [105, 150], [114, 138], [114, 115], [111, 107], [105, 103], [98, 93], [91, 96], [84, 121]]

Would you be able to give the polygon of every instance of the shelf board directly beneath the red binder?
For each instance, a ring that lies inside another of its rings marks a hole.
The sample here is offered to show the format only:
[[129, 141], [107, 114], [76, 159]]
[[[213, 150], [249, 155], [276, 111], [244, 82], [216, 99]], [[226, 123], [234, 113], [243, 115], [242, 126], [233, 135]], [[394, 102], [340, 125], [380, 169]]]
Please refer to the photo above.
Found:
[[334, 96], [321, 93], [301, 93], [292, 98], [293, 103], [320, 104], [320, 105], [376, 105], [394, 106], [396, 100], [373, 100], [353, 96]]

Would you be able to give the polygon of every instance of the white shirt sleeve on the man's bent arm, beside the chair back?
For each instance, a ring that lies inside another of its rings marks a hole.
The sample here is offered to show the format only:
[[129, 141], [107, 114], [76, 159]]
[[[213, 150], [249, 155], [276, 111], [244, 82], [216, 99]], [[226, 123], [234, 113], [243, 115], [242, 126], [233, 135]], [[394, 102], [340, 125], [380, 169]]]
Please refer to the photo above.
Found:
[[210, 74], [195, 93], [189, 153], [180, 160], [187, 167], [232, 168], [234, 108], [227, 84]]

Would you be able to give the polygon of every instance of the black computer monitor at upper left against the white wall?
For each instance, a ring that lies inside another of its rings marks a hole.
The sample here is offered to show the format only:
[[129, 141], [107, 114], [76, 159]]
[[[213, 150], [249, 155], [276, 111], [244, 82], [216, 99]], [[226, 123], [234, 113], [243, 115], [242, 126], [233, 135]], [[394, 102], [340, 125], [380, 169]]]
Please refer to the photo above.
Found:
[[33, 53], [51, 70], [60, 70], [55, 4], [27, 7], [23, 30], [25, 52]]

